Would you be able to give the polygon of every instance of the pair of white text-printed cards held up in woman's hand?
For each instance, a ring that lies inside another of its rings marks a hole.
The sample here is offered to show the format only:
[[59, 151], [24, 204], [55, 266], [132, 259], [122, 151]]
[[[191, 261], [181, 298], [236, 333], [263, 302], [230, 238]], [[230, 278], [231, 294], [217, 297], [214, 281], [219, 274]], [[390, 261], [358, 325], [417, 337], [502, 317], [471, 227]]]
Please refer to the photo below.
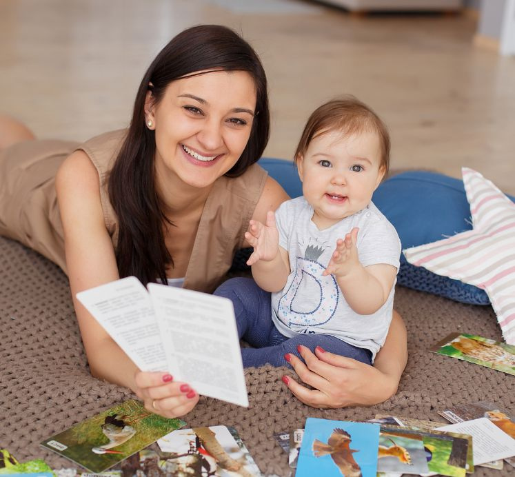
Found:
[[142, 371], [170, 372], [199, 394], [248, 407], [234, 307], [228, 298], [134, 276], [77, 299]]

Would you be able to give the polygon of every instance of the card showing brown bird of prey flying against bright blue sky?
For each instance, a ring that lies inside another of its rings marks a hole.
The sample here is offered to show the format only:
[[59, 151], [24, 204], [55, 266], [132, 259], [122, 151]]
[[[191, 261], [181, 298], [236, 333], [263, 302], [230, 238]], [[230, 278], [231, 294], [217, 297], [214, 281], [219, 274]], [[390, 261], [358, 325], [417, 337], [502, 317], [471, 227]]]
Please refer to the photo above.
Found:
[[296, 477], [376, 477], [380, 426], [307, 418]]

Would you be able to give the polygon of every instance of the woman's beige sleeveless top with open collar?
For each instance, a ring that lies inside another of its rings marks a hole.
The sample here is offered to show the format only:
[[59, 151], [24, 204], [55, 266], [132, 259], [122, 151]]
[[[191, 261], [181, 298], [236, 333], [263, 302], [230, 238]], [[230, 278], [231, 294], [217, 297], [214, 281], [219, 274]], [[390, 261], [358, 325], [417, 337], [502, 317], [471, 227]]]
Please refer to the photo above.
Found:
[[[105, 227], [117, 246], [118, 221], [108, 198], [107, 179], [125, 130], [108, 132], [83, 144], [26, 141], [0, 154], [0, 234], [46, 256], [66, 273], [63, 226], [55, 192], [59, 165], [83, 150], [99, 172]], [[248, 221], [263, 192], [267, 172], [254, 164], [241, 176], [222, 176], [204, 205], [184, 287], [212, 292], [242, 247]]]

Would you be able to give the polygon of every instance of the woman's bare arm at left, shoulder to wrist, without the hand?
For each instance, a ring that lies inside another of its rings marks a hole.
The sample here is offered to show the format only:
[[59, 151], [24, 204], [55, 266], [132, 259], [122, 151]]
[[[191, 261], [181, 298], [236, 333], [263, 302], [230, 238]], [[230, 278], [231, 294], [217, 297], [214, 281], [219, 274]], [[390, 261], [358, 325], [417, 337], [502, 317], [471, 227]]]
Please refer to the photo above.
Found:
[[103, 220], [99, 176], [84, 152], [74, 152], [64, 161], [57, 172], [56, 189], [70, 289], [91, 373], [132, 389], [134, 363], [75, 298], [77, 292], [119, 278]]

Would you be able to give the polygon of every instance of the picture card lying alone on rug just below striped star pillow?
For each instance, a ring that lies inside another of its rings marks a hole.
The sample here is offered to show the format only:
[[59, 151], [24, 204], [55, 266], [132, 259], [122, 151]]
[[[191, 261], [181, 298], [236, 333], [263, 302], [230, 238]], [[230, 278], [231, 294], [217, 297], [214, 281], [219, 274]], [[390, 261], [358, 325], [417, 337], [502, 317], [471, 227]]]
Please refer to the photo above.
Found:
[[515, 375], [515, 346], [482, 336], [452, 333], [430, 351]]

